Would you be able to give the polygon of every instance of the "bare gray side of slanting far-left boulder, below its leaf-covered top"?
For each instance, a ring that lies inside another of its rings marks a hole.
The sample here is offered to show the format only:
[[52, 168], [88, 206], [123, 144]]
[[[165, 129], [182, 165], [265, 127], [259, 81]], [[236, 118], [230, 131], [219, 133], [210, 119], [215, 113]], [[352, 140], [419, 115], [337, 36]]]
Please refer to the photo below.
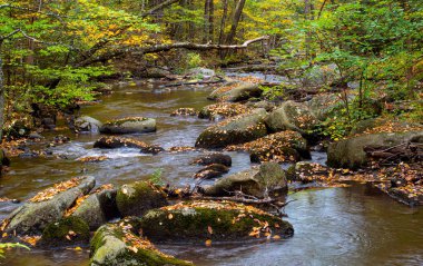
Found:
[[75, 200], [88, 194], [95, 184], [94, 177], [83, 177], [78, 186], [59, 193], [50, 199], [26, 203], [9, 215], [7, 218], [9, 224], [4, 231], [16, 231], [18, 235], [41, 233], [48, 224], [61, 219]]

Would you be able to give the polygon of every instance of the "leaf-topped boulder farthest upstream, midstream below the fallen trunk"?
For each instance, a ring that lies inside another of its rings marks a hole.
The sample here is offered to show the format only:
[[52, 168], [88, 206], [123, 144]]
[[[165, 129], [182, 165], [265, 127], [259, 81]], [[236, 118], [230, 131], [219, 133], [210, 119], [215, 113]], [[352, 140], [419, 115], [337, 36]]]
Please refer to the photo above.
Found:
[[239, 82], [214, 90], [207, 99], [217, 101], [244, 101], [250, 98], [258, 98], [263, 93], [258, 83]]

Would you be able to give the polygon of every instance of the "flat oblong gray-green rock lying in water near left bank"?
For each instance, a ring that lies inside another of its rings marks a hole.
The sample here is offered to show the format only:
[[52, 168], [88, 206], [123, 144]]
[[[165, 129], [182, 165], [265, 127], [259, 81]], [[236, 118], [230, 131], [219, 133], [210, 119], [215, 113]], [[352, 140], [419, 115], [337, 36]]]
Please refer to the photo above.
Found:
[[156, 131], [156, 119], [127, 117], [106, 122], [100, 127], [102, 134], [140, 134]]

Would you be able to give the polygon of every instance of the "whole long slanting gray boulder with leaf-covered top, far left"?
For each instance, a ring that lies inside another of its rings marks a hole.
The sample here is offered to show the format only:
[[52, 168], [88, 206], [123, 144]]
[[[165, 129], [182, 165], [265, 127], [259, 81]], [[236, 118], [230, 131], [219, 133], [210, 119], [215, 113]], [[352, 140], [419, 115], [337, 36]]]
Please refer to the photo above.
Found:
[[4, 220], [6, 233], [40, 234], [48, 224], [63, 217], [75, 201], [95, 186], [94, 177], [72, 178], [56, 184], [12, 211]]

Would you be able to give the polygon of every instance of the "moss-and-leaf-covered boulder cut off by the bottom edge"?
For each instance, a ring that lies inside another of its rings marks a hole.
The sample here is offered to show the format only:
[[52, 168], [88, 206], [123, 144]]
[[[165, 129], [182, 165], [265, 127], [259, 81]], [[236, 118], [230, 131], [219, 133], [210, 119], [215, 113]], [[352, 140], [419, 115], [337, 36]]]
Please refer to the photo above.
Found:
[[95, 234], [90, 244], [91, 266], [177, 266], [193, 265], [160, 253], [150, 242], [134, 233], [128, 224], [107, 224]]

